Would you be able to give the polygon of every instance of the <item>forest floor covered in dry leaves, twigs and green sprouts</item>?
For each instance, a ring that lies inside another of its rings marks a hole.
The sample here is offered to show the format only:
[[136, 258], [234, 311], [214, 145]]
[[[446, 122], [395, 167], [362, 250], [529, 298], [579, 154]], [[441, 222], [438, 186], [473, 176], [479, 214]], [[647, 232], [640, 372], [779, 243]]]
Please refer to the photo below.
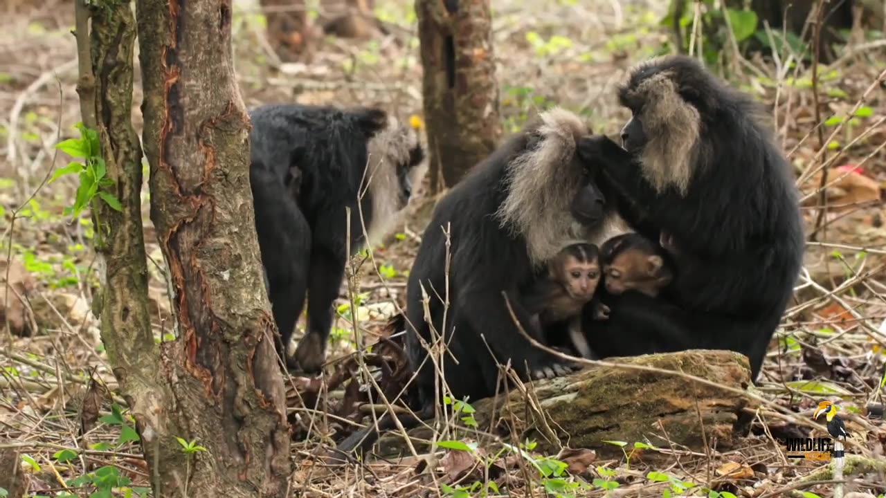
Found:
[[[53, 145], [75, 136], [74, 123], [80, 121], [70, 34], [73, 9], [68, 3], [37, 4], [17, 7], [10, 2], [0, 20], [0, 281], [9, 268], [9, 283], [17, 285], [19, 292], [26, 290], [29, 303], [27, 307], [9, 304], [0, 307], [0, 312], [5, 311], [5, 319], [16, 330], [35, 331], [25, 337], [4, 332], [0, 337], [0, 364], [4, 366], [0, 373], [0, 463], [9, 450], [18, 452], [31, 494], [88, 495], [108, 483], [130, 486], [142, 494], [149, 485], [144, 461], [136, 455], [131, 421], [117, 407], [112, 409], [111, 401], [101, 406], [102, 418], [88, 424], [87, 438], [77, 436], [84, 424], [84, 387], [89, 375], [112, 387], [116, 383], [97, 320], [90, 312], [97, 276], [89, 214], [72, 220], [63, 213], [73, 204], [75, 178], [46, 183], [53, 171], [70, 160], [61, 152], [57, 157]], [[293, 100], [377, 103], [403, 119], [421, 115], [421, 66], [412, 2], [382, 0], [378, 4], [377, 14], [391, 25], [392, 35], [366, 42], [330, 39], [310, 64], [284, 66], [275, 63], [261, 38], [262, 18], [257, 11], [252, 7], [237, 10], [235, 55], [246, 105]], [[501, 61], [497, 78], [505, 132], [519, 129], [548, 106], [561, 105], [586, 118], [595, 131], [615, 134], [627, 112], [618, 107], [614, 85], [629, 66], [666, 50], [669, 37], [659, 22], [662, 4], [552, 0], [544, 9], [532, 9], [528, 3], [496, 0], [494, 54]], [[727, 44], [721, 52], [734, 56], [731, 47]], [[727, 66], [734, 85], [773, 110], [781, 143], [804, 194], [807, 234], [817, 224], [823, 225], [807, 245], [796, 299], [773, 338], [756, 392], [806, 418], [811, 418], [819, 401], [835, 401], [853, 434], [847, 454], [882, 462], [886, 424], [882, 412], [876, 416], [869, 407], [882, 403], [886, 393], [886, 209], [882, 204], [886, 84], [879, 73], [886, 67], [886, 51], [882, 44], [864, 44], [823, 66], [815, 82], [820, 117], [813, 105], [812, 72], [784, 64], [787, 55], [781, 54], [781, 63], [755, 56]], [[133, 120], [139, 133], [140, 80], [136, 59]], [[853, 109], [855, 116], [849, 119]], [[824, 125], [817, 128], [819, 120]], [[829, 178], [838, 179], [828, 188], [827, 214], [819, 219], [822, 159], [830, 161]], [[148, 254], [151, 261], [163, 261], [148, 215], [146, 182], [144, 194]], [[422, 205], [422, 194], [417, 205]], [[370, 261], [355, 260], [361, 265], [355, 309], [369, 334], [382, 330], [393, 303], [403, 306], [406, 276], [423, 221], [426, 209], [410, 217], [388, 245], [377, 247], [373, 252], [376, 268]], [[149, 262], [149, 267], [156, 336], [158, 341], [170, 340], [167, 285], [156, 264]], [[330, 361], [354, 352], [351, 303], [346, 295], [343, 288]], [[6, 302], [12, 301], [16, 300], [10, 294]], [[299, 377], [288, 378], [287, 385], [300, 394], [314, 389]], [[330, 394], [330, 405], [340, 403], [340, 393], [337, 396]], [[436, 455], [445, 455], [439, 460], [409, 456], [354, 464], [347, 471], [322, 471], [306, 457], [318, 440], [303, 433], [311, 412], [293, 401], [293, 433], [298, 437], [293, 437], [292, 492], [303, 496], [412, 496], [423, 490], [427, 495], [453, 496], [545, 492], [552, 496], [829, 496], [834, 483], [829, 482], [831, 476], [822, 464], [789, 462], [783, 445], [773, 440], [773, 433], [806, 437], [809, 428], [775, 422], [776, 418], [767, 417], [767, 410], [760, 409], [754, 431], [742, 440], [742, 447], [728, 452], [644, 447], [661, 441], [657, 435], [657, 440], [640, 441], [639, 446], [626, 441], [624, 449], [630, 459], [603, 458], [587, 451], [550, 455], [559, 457], [564, 462], [561, 466], [538, 452], [501, 453], [499, 442], [468, 433], [463, 440], [478, 441], [482, 452], [445, 449]], [[89, 449], [81, 451], [85, 445]], [[485, 464], [476, 464], [473, 455], [479, 453], [486, 455]], [[643, 455], [649, 454], [659, 457], [656, 463], [645, 461]], [[526, 473], [526, 462], [532, 462], [537, 471]], [[565, 468], [568, 471], [563, 472]], [[886, 493], [882, 469], [871, 471], [862, 465], [847, 473], [847, 489]], [[118, 478], [123, 480], [114, 480]]]

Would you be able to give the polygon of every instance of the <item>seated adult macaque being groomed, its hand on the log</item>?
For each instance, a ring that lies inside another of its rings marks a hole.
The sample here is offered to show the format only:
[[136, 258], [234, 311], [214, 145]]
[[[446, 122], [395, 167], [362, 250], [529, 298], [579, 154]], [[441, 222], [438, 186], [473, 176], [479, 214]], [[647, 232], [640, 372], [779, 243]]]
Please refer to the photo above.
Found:
[[[425, 295], [434, 335], [441, 334], [447, 346], [443, 371], [457, 399], [493, 395], [496, 361], [510, 361], [525, 377], [554, 377], [576, 368], [532, 346], [517, 330], [502, 294], [522, 328], [539, 337], [520, 296], [564, 245], [595, 242], [607, 228], [613, 214], [605, 211], [601, 192], [575, 154], [576, 141], [587, 133], [572, 113], [542, 113], [435, 206], [409, 274], [403, 320], [410, 366], [417, 371], [419, 416], [432, 416], [442, 395], [435, 390], [435, 367], [424, 346], [434, 340], [425, 322]], [[385, 414], [380, 429], [392, 426]], [[338, 449], [350, 451], [364, 438], [360, 446], [368, 447], [377, 434], [372, 427], [356, 432]]]

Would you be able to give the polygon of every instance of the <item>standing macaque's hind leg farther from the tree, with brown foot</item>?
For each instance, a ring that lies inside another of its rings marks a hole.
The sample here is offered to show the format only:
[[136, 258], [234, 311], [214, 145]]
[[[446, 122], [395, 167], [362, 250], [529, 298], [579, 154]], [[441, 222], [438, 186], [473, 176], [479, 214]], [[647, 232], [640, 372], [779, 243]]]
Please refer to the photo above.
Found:
[[319, 372], [326, 360], [326, 342], [332, 326], [332, 302], [345, 276], [345, 259], [320, 245], [311, 251], [307, 282], [307, 334], [299, 341], [295, 359], [307, 373]]

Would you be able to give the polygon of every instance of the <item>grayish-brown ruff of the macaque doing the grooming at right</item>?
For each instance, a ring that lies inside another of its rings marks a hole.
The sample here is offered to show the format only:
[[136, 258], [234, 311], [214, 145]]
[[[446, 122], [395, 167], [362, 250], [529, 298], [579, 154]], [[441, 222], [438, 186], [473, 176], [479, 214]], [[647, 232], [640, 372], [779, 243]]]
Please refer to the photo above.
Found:
[[685, 196], [700, 152], [698, 110], [680, 97], [669, 72], [643, 80], [628, 93], [648, 104], [638, 116], [649, 138], [641, 156], [643, 177], [658, 192], [672, 187]]

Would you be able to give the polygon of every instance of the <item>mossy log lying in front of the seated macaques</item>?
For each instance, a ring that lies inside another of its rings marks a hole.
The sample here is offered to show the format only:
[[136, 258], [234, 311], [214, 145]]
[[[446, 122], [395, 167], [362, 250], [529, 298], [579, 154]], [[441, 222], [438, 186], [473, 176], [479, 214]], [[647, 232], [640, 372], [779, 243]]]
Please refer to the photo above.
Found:
[[[703, 451], [705, 441], [719, 449], [733, 446], [738, 436], [734, 427], [750, 400], [724, 387], [743, 391], [748, 385], [747, 357], [729, 351], [690, 350], [607, 362], [682, 372], [716, 386], [680, 373], [587, 367], [567, 377], [526, 384], [525, 390], [512, 387], [507, 396], [473, 402], [479, 428], [494, 428], [500, 434], [511, 431], [519, 440], [538, 441], [539, 448], [548, 452], [568, 446], [622, 455], [619, 447], [605, 440], [625, 441], [627, 451], [636, 441], [694, 451]], [[430, 431], [419, 428], [410, 436], [414, 443], [428, 440]], [[379, 447], [385, 455], [405, 453], [397, 434], [385, 436]]]

